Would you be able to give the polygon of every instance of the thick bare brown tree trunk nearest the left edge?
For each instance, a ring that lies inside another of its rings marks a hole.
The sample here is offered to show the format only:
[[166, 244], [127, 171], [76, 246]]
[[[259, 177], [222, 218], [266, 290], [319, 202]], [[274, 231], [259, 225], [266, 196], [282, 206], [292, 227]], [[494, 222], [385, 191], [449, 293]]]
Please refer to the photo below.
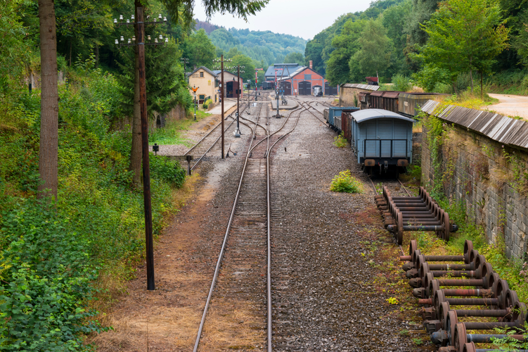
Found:
[[56, 20], [53, 0], [39, 0], [39, 22], [42, 82], [39, 174], [44, 181], [39, 184], [39, 191], [41, 191], [39, 192], [39, 197], [50, 195], [57, 199], [58, 82]]

